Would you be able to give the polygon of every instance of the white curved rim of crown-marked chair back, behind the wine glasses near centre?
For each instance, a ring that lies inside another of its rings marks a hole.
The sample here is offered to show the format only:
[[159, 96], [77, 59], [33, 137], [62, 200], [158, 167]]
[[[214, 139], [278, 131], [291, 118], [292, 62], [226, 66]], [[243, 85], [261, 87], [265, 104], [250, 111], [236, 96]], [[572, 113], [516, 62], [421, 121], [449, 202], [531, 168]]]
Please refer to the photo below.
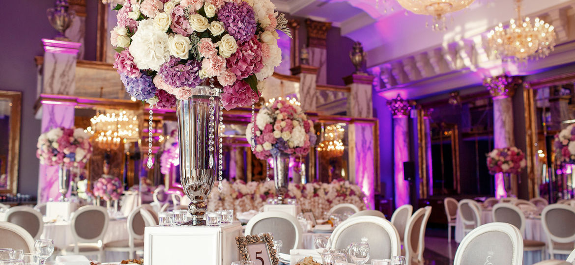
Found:
[[335, 246], [338, 244], [340, 235], [342, 235], [342, 232], [346, 228], [351, 227], [352, 225], [355, 224], [362, 224], [362, 223], [371, 223], [379, 225], [380, 227], [384, 228], [385, 232], [388, 233], [392, 247], [391, 249], [392, 255], [389, 257], [389, 259], [392, 259], [393, 256], [398, 256], [401, 254], [401, 244], [399, 239], [400, 237], [399, 233], [397, 232], [397, 229], [393, 226], [393, 224], [390, 221], [375, 216], [358, 216], [355, 217], [354, 219], [347, 219], [346, 221], [343, 221], [343, 223], [338, 225], [338, 227], [336, 227], [335, 230], [333, 230], [333, 233], [330, 236], [332, 248], [335, 248]]

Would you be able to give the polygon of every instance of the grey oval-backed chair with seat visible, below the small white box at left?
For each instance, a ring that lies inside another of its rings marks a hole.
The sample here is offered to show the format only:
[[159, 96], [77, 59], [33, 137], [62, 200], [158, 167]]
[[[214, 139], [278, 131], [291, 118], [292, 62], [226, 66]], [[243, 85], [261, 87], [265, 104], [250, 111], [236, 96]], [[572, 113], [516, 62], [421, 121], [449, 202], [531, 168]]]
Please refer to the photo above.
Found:
[[74, 244], [62, 250], [62, 255], [98, 255], [102, 260], [104, 247], [102, 240], [110, 219], [105, 207], [86, 205], [74, 212], [70, 227]]

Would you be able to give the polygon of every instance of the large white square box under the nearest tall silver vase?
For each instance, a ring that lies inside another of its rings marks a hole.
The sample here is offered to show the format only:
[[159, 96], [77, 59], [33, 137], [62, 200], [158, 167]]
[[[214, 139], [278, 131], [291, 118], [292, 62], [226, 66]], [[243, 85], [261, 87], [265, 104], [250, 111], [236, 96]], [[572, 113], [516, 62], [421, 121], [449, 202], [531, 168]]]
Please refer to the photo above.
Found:
[[241, 224], [220, 227], [146, 227], [146, 265], [229, 265], [240, 260], [236, 236]]

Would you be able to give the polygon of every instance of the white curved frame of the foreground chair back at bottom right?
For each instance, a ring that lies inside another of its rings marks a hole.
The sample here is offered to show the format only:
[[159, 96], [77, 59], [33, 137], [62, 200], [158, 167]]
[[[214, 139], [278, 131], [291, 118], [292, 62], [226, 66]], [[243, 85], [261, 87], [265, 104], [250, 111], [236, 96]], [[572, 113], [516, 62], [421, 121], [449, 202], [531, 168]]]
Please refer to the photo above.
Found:
[[[499, 231], [506, 233], [511, 239], [511, 243], [513, 244], [511, 264], [505, 264], [505, 265], [521, 265], [523, 262], [523, 236], [521, 235], [521, 232], [519, 232], [519, 229], [507, 223], [484, 224], [481, 225], [480, 227], [477, 227], [476, 229], [473, 229], [473, 231], [469, 232], [467, 236], [463, 237], [461, 244], [459, 244], [457, 252], [455, 252], [455, 260], [453, 264], [466, 265], [461, 263], [463, 259], [463, 252], [467, 251], [467, 247], [469, 247], [469, 245], [473, 242], [473, 240], [476, 239], [478, 236], [482, 235], [483, 233], [492, 231]], [[474, 250], [469, 249], [469, 251]], [[483, 262], [481, 262], [481, 264], [482, 263]]]

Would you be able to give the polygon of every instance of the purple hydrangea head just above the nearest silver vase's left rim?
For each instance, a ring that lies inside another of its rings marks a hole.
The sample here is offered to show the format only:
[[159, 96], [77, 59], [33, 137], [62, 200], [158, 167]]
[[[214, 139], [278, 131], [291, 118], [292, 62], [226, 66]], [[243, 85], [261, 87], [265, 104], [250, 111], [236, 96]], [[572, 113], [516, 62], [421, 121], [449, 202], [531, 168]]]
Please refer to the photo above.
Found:
[[171, 57], [167, 63], [160, 67], [158, 75], [161, 75], [164, 82], [172, 87], [194, 88], [202, 81], [198, 75], [201, 67], [202, 63], [199, 61], [188, 60], [185, 64], [180, 64], [178, 58]]

